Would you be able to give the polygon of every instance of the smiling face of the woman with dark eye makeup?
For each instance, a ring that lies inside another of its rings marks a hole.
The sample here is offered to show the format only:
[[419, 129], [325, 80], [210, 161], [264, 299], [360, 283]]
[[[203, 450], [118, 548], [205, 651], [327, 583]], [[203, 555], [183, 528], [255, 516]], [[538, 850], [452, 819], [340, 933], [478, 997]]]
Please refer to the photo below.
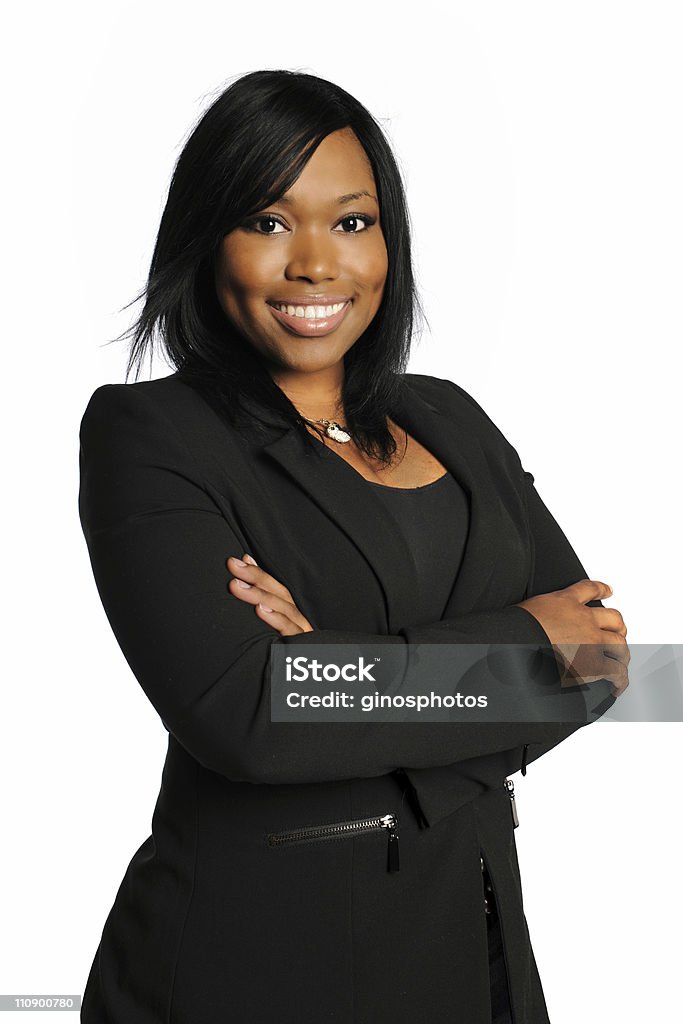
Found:
[[279, 202], [223, 239], [218, 300], [273, 376], [342, 364], [373, 321], [388, 266], [376, 197], [366, 153], [342, 129]]

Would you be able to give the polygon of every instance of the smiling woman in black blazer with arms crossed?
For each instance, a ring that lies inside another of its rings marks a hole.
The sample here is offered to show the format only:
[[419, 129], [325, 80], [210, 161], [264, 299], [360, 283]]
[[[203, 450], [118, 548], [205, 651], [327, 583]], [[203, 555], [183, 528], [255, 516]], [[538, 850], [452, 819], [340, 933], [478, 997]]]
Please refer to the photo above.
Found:
[[135, 329], [129, 371], [159, 330], [175, 372], [97, 388], [81, 424], [94, 577], [169, 732], [85, 1024], [548, 1021], [506, 783], [578, 721], [271, 719], [281, 644], [526, 644], [559, 682], [551, 643], [609, 642], [605, 707], [626, 685], [609, 588], [517, 453], [404, 372], [418, 308], [371, 115], [309, 75], [233, 82], [178, 160]]

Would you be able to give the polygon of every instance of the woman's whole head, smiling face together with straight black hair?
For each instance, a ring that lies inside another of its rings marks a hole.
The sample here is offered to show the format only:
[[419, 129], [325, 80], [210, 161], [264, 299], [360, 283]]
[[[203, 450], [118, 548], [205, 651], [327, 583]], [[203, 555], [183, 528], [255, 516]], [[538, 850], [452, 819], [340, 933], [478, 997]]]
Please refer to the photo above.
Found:
[[126, 378], [159, 337], [232, 429], [294, 428], [317, 452], [317, 421], [344, 419], [356, 464], [391, 472], [422, 309], [395, 158], [345, 90], [254, 72], [218, 96], [178, 159], [138, 298]]

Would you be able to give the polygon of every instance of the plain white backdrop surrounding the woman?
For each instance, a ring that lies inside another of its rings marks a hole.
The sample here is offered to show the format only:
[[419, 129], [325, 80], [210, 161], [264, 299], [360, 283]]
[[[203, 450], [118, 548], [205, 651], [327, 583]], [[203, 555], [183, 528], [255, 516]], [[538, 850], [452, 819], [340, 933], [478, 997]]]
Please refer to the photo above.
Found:
[[[82, 993], [150, 833], [166, 733], [99, 604], [78, 427], [124, 379], [125, 346], [104, 342], [139, 311], [120, 310], [173, 163], [234, 77], [306, 71], [381, 121], [430, 326], [410, 369], [460, 383], [501, 426], [613, 587], [630, 643], [683, 640], [681, 8], [400, 11], [43, 0], [5, 15], [0, 992]], [[681, 1019], [682, 738], [599, 723], [515, 776], [553, 1024]]]

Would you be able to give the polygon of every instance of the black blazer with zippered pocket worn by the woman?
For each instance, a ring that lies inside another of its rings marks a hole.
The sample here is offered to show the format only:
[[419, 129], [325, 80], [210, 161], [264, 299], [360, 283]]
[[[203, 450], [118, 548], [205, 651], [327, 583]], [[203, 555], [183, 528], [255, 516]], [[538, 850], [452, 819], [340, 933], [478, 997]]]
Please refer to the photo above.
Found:
[[[504, 783], [579, 726], [270, 720], [273, 643], [549, 653], [516, 602], [587, 577], [532, 475], [462, 388], [405, 374], [393, 419], [470, 501], [443, 620], [416, 628], [405, 541], [334, 452], [310, 452], [294, 429], [251, 443], [178, 374], [91, 396], [81, 522], [112, 629], [169, 737], [85, 1024], [488, 1024], [482, 862], [515, 1021], [547, 1022]], [[289, 588], [312, 632], [280, 637], [232, 597], [225, 559], [244, 552]]]

